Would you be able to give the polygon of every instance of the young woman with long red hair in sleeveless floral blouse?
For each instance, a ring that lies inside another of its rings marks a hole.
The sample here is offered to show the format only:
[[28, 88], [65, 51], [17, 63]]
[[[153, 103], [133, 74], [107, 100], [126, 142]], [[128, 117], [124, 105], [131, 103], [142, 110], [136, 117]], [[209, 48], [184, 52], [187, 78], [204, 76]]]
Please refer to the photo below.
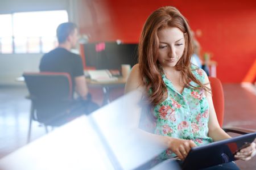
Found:
[[[151, 138], [168, 147], [163, 159], [183, 160], [192, 147], [230, 138], [218, 124], [207, 74], [191, 64], [192, 50], [187, 20], [175, 7], [161, 7], [144, 24], [139, 63], [127, 79], [125, 92], [142, 91], [152, 105], [153, 113], [147, 113], [155, 117]], [[236, 158], [254, 155], [252, 143]]]

